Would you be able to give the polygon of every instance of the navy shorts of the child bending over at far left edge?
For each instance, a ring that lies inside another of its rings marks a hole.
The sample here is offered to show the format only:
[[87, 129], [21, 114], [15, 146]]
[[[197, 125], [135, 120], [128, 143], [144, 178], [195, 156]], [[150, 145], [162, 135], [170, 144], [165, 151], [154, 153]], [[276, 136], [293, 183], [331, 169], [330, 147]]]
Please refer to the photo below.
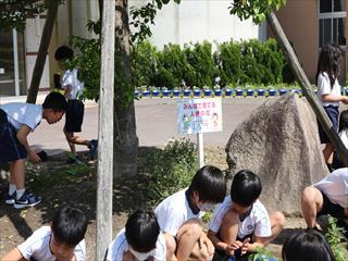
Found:
[[16, 129], [8, 121], [7, 113], [0, 109], [0, 163], [25, 159], [25, 147], [18, 141]]

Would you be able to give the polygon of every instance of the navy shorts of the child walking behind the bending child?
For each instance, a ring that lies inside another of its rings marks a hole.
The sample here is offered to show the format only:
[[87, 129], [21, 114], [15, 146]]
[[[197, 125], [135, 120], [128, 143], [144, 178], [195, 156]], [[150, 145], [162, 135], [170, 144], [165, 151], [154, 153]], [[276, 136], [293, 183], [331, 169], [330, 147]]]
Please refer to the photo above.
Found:
[[67, 133], [80, 133], [85, 114], [85, 104], [79, 100], [69, 100], [64, 129]]

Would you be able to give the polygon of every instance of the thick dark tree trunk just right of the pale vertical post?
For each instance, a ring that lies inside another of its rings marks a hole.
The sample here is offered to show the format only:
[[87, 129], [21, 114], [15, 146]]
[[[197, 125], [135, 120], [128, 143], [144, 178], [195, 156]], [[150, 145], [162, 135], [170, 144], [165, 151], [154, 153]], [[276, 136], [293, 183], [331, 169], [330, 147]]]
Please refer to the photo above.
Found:
[[[116, 0], [115, 41], [120, 48], [122, 69], [128, 83], [132, 83], [130, 73], [130, 42], [127, 0]], [[130, 88], [130, 84], [128, 85]], [[115, 97], [124, 97], [124, 90], [115, 86]], [[132, 90], [133, 92], [133, 90]], [[137, 174], [138, 137], [136, 135], [134, 99], [126, 108], [115, 104], [114, 126], [114, 170], [117, 175], [128, 176]], [[116, 174], [114, 173], [114, 177]]]

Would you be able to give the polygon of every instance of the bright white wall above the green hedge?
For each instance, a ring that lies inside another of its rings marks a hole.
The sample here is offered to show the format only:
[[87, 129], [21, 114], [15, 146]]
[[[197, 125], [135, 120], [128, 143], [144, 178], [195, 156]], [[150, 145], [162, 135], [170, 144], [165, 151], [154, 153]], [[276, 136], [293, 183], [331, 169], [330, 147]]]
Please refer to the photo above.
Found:
[[[129, 7], [144, 4], [141, 0], [129, 0]], [[171, 0], [158, 12], [156, 25], [151, 27], [151, 41], [159, 48], [163, 45], [189, 44], [209, 40], [224, 42], [260, 38], [259, 26], [252, 22], [240, 22], [231, 15], [231, 0], [182, 0], [176, 4]]]

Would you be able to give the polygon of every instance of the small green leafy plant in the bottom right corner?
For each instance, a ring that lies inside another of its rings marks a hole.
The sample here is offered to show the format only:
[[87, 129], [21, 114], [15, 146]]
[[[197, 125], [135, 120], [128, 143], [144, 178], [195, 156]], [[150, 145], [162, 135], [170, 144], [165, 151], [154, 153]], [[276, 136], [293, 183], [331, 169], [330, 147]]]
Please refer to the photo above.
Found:
[[330, 243], [336, 261], [345, 261], [347, 260], [347, 244], [343, 243], [345, 233], [344, 228], [337, 225], [337, 219], [333, 216], [328, 216], [328, 227], [327, 233], [325, 234], [327, 241]]

